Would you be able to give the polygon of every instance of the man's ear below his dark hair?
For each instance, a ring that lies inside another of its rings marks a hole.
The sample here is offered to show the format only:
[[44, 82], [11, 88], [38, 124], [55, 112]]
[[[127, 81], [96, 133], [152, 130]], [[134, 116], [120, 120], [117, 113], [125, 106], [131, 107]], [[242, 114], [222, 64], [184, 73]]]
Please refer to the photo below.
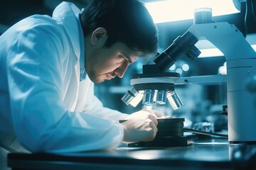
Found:
[[91, 42], [92, 45], [96, 45], [100, 42], [104, 43], [107, 40], [107, 30], [103, 27], [99, 27], [92, 32]]

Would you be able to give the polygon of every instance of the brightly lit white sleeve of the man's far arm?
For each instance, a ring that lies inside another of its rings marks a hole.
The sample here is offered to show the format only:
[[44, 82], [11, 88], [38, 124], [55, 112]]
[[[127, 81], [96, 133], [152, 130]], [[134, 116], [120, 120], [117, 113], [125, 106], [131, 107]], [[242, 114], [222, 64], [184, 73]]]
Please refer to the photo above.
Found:
[[[110, 108], [103, 106], [102, 102], [94, 94], [94, 83], [87, 77], [85, 81], [80, 82], [80, 91], [78, 94], [78, 103], [84, 103], [82, 111], [90, 115], [95, 115], [99, 118], [107, 120], [122, 120], [127, 118], [128, 114], [120, 113]], [[86, 95], [86, 98], [84, 96]], [[110, 98], [110, 102], [111, 98]]]

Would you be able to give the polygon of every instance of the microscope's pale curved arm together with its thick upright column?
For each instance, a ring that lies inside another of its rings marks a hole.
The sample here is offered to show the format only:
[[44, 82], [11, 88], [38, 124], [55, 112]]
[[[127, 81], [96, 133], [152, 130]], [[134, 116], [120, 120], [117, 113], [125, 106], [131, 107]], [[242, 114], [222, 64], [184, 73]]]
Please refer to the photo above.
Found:
[[255, 50], [229, 23], [197, 24], [188, 32], [198, 40], [212, 42], [227, 61], [228, 140], [256, 142], [256, 98], [247, 88], [248, 80], [256, 74]]

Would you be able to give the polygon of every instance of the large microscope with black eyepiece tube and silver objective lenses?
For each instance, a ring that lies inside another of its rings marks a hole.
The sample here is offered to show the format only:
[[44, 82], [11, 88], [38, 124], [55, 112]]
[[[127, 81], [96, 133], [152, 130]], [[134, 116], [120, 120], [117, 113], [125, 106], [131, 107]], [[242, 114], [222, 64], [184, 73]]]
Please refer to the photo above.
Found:
[[[208, 40], [225, 56], [227, 62], [226, 75], [208, 75], [198, 77], [181, 77], [176, 72], [168, 72], [171, 65], [183, 56], [194, 60], [201, 54], [196, 47], [198, 40]], [[230, 143], [256, 142], [256, 97], [248, 89], [248, 81], [256, 74], [256, 53], [244, 36], [234, 25], [229, 23], [215, 23], [213, 21], [193, 24], [186, 33], [178, 36], [174, 42], [161, 52], [154, 64], [143, 66], [142, 74], [134, 74], [130, 81], [133, 86], [122, 98], [124, 103], [137, 106], [142, 101], [144, 108], [151, 108], [153, 103], [164, 105], [166, 98], [175, 110], [183, 103], [175, 91], [180, 84], [227, 84], [228, 96], [228, 141]], [[256, 88], [254, 88], [256, 89]], [[159, 119], [164, 128], [178, 127], [183, 118]], [[168, 126], [169, 125], [169, 126]], [[160, 128], [160, 127], [158, 127]], [[182, 126], [183, 128], [183, 126]], [[166, 131], [166, 130], [164, 130]], [[178, 129], [181, 131], [181, 129]], [[159, 129], [161, 132], [161, 129]], [[177, 132], [177, 131], [176, 131]], [[165, 137], [165, 138], [164, 138]], [[172, 138], [174, 137], [174, 138]], [[161, 138], [161, 139], [160, 139]], [[168, 146], [172, 140], [178, 145], [182, 138], [183, 144], [188, 145], [191, 138], [182, 135], [156, 136], [152, 145]], [[166, 140], [169, 138], [168, 140]], [[146, 143], [146, 142], [145, 142]], [[145, 144], [144, 144], [145, 145]]]

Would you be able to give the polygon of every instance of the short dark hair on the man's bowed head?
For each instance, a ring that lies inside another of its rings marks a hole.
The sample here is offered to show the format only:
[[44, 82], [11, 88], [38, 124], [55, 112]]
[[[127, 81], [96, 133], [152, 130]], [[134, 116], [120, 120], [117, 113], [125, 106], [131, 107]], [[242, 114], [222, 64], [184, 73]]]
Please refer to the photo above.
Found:
[[107, 30], [105, 44], [123, 42], [143, 55], [155, 53], [158, 47], [158, 31], [149, 11], [137, 0], [94, 0], [80, 15], [85, 35], [96, 28]]

